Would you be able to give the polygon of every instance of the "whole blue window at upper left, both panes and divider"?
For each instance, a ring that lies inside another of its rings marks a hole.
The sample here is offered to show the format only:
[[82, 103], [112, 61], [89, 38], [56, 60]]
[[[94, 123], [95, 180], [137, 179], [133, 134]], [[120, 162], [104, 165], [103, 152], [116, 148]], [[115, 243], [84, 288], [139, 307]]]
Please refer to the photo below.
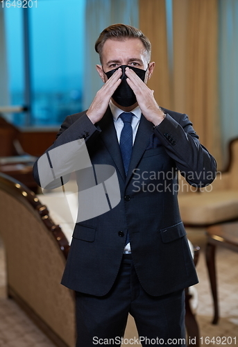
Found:
[[28, 115], [12, 115], [15, 124], [58, 125], [82, 110], [84, 13], [85, 0], [4, 8], [11, 104], [31, 100]]

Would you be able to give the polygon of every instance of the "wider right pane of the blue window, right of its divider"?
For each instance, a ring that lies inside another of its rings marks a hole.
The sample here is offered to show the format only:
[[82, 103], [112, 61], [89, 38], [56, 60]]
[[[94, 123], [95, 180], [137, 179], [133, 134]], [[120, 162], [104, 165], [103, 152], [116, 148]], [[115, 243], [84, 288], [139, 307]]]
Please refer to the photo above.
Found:
[[31, 9], [34, 124], [61, 124], [82, 110], [83, 0], [39, 1]]

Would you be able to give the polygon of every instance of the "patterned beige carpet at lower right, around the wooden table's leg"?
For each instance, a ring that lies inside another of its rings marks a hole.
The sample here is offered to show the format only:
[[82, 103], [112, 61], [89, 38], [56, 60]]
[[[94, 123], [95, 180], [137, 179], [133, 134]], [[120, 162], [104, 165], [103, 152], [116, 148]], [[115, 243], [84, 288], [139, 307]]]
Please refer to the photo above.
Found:
[[[238, 230], [237, 230], [238, 232]], [[226, 248], [217, 248], [216, 269], [219, 288], [219, 309], [221, 319], [218, 325], [212, 325], [212, 296], [210, 294], [210, 284], [207, 277], [205, 265], [205, 236], [203, 232], [188, 232], [189, 239], [193, 244], [201, 247], [201, 255], [198, 260], [197, 271], [199, 283], [196, 285], [198, 290], [198, 311], [197, 318], [201, 332], [201, 347], [218, 346], [222, 342], [224, 345], [237, 347], [238, 345], [238, 253]], [[205, 337], [207, 344], [205, 343]], [[215, 337], [215, 342], [211, 342]], [[216, 337], [221, 337], [221, 343]], [[227, 339], [232, 337], [232, 339]], [[210, 341], [210, 344], [208, 343]], [[230, 344], [230, 342], [232, 342]]]

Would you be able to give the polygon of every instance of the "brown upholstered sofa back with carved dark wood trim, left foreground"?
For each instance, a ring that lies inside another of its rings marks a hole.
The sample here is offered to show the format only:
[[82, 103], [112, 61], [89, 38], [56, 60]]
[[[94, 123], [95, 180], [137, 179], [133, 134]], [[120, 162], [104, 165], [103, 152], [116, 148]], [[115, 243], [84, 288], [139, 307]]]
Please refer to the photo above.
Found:
[[0, 174], [0, 236], [7, 292], [58, 347], [74, 347], [74, 292], [60, 285], [69, 243], [45, 205]]

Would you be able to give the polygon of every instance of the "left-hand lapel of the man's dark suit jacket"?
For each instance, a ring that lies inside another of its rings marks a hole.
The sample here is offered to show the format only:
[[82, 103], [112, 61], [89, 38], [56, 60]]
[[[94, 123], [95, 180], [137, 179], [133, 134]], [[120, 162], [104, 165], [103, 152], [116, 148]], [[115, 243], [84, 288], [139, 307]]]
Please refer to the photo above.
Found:
[[108, 152], [112, 156], [112, 159], [114, 160], [114, 163], [117, 169], [119, 170], [121, 177], [124, 180], [126, 180], [124, 164], [121, 158], [121, 150], [119, 147], [117, 132], [114, 127], [110, 107], [108, 107], [108, 110], [105, 112], [105, 115], [97, 125], [101, 129], [100, 137], [103, 140], [103, 143], [105, 144], [106, 148], [108, 149]]

